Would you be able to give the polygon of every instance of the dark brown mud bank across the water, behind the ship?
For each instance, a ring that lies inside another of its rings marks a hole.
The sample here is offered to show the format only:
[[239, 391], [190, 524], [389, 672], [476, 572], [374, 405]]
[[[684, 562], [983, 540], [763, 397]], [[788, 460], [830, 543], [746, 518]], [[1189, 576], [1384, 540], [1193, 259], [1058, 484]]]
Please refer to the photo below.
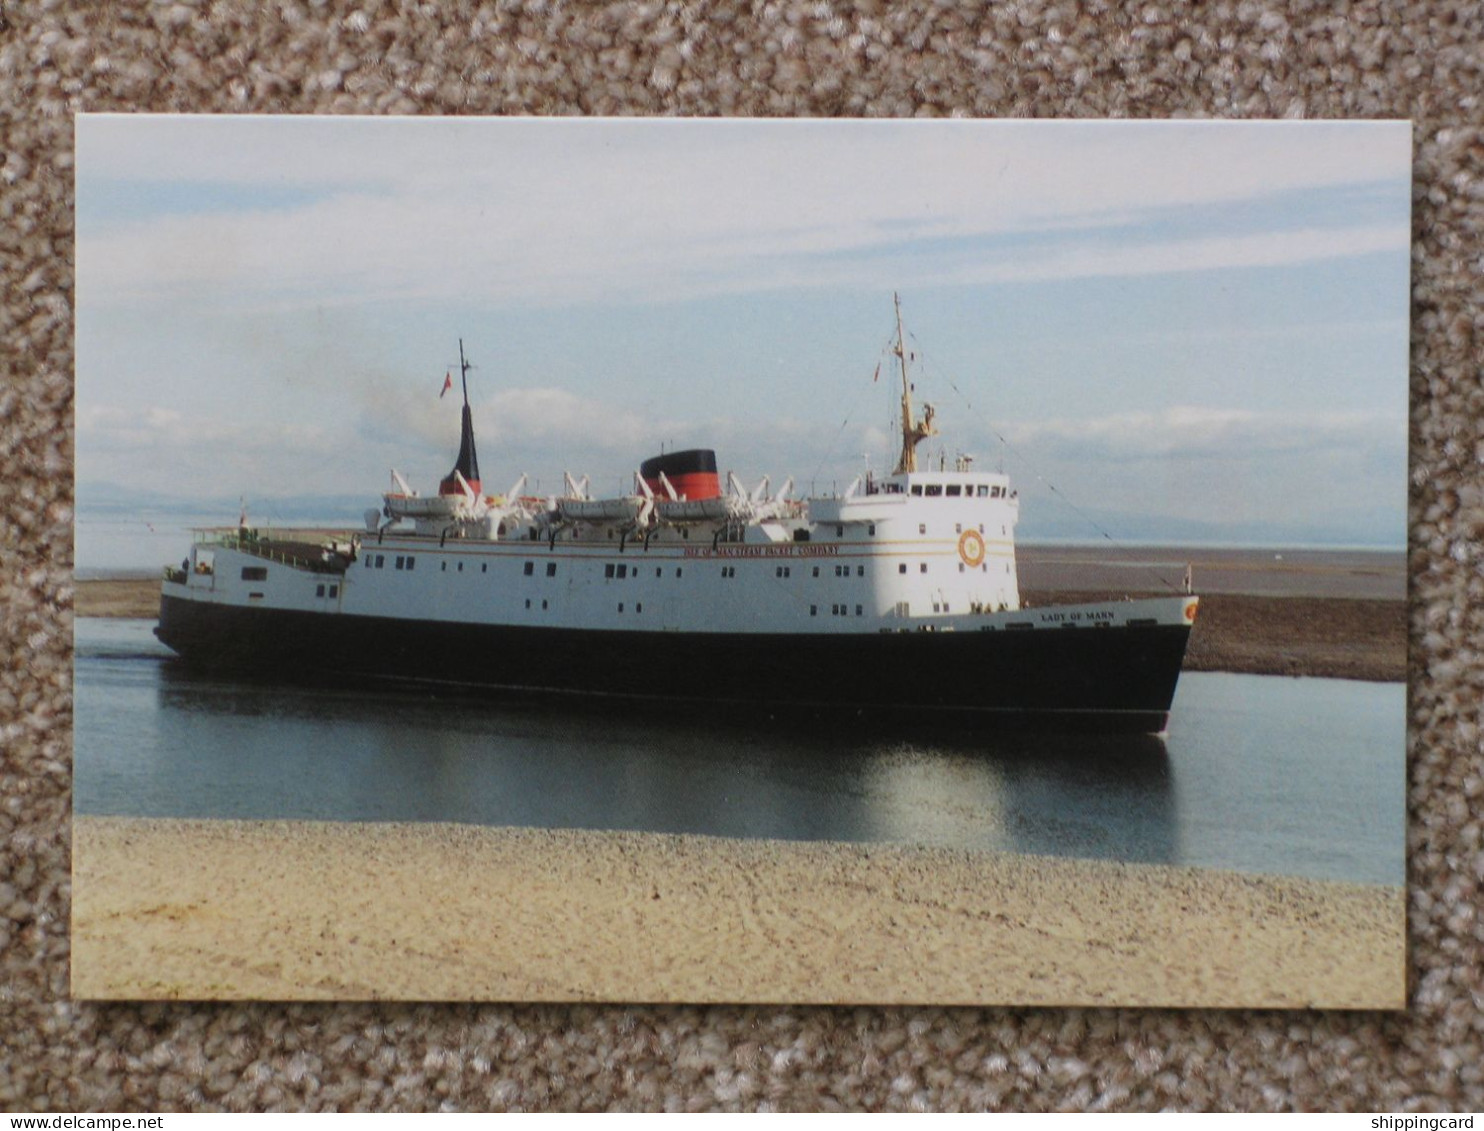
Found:
[[[76, 582], [74, 613], [154, 619], [160, 582]], [[1107, 589], [1030, 589], [1025, 603], [1119, 600]], [[1401, 683], [1407, 678], [1407, 603], [1391, 598], [1202, 595], [1186, 671], [1307, 675]]]

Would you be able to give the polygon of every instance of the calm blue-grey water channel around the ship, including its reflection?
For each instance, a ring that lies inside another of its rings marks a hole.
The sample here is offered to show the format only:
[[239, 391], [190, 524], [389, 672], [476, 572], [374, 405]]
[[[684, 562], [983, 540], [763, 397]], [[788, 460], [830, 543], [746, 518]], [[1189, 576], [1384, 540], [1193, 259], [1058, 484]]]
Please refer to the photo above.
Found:
[[1169, 735], [831, 733], [183, 672], [79, 619], [80, 813], [898, 840], [1404, 882], [1402, 684], [1181, 677]]

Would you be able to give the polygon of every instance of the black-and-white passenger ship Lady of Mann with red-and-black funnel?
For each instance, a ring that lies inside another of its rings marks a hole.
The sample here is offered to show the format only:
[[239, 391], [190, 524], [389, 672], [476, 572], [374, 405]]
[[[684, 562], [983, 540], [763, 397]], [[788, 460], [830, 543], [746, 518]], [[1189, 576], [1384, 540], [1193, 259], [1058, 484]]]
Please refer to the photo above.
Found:
[[613, 497], [571, 473], [559, 496], [524, 493], [525, 476], [487, 494], [460, 341], [460, 447], [436, 493], [393, 472], [338, 536], [245, 517], [196, 530], [156, 635], [186, 663], [285, 678], [1162, 733], [1199, 598], [1024, 606], [1020, 494], [971, 459], [920, 460], [938, 427], [914, 408], [895, 306], [889, 473], [795, 499], [791, 479], [748, 490], [714, 450], [684, 448]]

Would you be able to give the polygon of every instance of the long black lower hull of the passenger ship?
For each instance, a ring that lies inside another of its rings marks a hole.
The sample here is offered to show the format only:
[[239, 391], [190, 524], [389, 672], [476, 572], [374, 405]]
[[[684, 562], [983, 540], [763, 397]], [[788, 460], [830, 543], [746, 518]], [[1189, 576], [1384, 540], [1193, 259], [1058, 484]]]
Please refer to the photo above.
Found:
[[275, 678], [358, 675], [754, 712], [972, 717], [994, 727], [1153, 733], [1165, 729], [1190, 629], [614, 632], [165, 597], [156, 635], [188, 663]]

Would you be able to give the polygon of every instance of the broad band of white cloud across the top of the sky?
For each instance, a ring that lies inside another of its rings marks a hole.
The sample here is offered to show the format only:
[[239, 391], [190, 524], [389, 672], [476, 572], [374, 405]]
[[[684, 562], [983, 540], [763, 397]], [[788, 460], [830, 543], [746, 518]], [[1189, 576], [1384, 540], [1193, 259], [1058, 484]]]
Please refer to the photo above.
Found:
[[[1404, 186], [1404, 128], [1165, 125], [389, 129], [107, 119], [79, 134], [79, 273], [98, 303], [230, 294], [528, 306], [1140, 275], [1405, 249], [1405, 215], [1306, 230], [1272, 230], [1258, 217], [1247, 220], [1251, 230], [1198, 237], [1150, 226], [1160, 209]], [[120, 144], [135, 134], [145, 141]], [[177, 186], [174, 212], [92, 221], [107, 215], [110, 178], [180, 178], [237, 206], [188, 208]], [[279, 191], [273, 206], [254, 208], [243, 186], [255, 181], [315, 191], [297, 206]], [[98, 206], [86, 203], [89, 193]]]

